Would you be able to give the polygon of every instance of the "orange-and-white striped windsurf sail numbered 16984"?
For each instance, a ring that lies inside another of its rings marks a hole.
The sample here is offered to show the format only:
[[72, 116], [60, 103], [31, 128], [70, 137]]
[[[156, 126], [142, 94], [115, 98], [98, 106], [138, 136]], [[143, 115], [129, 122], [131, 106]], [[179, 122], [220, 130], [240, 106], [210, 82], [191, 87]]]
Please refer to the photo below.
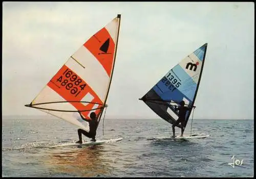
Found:
[[[87, 40], [26, 107], [36, 108], [89, 132], [90, 113], [98, 123], [108, 98], [117, 53], [121, 15]], [[98, 125], [97, 125], [98, 127]]]

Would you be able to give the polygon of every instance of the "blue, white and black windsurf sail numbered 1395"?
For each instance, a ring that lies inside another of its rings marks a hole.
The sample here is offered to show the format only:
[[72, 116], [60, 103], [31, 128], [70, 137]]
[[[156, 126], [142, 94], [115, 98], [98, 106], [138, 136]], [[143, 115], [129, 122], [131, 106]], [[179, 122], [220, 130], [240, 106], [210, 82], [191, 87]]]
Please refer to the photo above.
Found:
[[[179, 103], [183, 100], [185, 105], [194, 106], [206, 48], [207, 43], [184, 58], [141, 98], [156, 114], [171, 124], [178, 119], [173, 105], [180, 106]], [[191, 110], [186, 113], [185, 125], [190, 112]]]

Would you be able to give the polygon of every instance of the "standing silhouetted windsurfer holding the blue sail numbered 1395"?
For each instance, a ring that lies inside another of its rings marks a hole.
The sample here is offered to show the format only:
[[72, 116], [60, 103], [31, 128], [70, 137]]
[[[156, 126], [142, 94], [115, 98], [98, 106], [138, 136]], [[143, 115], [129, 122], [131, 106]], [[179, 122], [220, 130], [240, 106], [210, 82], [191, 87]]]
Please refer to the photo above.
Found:
[[175, 111], [179, 111], [179, 118], [177, 121], [173, 124], [173, 138], [175, 138], [175, 126], [177, 126], [179, 123], [181, 124], [181, 137], [183, 136], [183, 132], [185, 130], [184, 124], [185, 124], [185, 117], [186, 112], [191, 109], [191, 107], [185, 107], [185, 102], [182, 100], [180, 102], [180, 107], [175, 106]]

